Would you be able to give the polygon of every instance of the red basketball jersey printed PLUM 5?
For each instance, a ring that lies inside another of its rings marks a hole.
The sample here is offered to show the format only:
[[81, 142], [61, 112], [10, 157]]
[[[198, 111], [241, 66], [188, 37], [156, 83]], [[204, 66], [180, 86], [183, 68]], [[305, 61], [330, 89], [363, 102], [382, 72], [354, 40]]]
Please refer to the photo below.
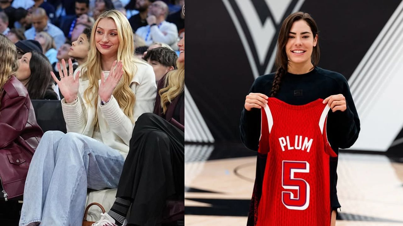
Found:
[[329, 106], [318, 99], [289, 105], [269, 98], [262, 108], [259, 152], [267, 153], [257, 226], [330, 225]]

